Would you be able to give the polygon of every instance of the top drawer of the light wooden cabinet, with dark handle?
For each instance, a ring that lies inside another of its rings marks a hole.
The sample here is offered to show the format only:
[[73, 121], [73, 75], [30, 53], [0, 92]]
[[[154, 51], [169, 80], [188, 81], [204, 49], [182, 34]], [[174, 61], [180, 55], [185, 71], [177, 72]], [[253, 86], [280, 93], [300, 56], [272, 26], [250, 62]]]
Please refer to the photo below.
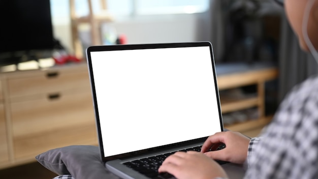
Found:
[[41, 71], [36, 76], [9, 78], [10, 98], [56, 93], [67, 89], [90, 89], [87, 70], [67, 73], [65, 71]]

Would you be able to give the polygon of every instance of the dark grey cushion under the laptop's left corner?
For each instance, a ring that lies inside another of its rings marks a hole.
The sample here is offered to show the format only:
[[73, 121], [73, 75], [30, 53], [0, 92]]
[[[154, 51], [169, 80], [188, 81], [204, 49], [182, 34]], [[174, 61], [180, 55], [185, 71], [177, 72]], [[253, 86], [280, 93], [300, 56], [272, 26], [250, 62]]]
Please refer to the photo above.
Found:
[[55, 148], [36, 156], [36, 159], [58, 175], [71, 174], [76, 179], [118, 178], [106, 169], [98, 146], [71, 145]]

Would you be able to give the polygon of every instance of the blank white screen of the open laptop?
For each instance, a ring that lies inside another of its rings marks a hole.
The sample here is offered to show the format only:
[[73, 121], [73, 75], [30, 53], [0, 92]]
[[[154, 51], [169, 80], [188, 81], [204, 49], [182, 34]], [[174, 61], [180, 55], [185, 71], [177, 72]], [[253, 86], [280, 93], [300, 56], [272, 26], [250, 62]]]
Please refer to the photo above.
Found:
[[91, 52], [105, 157], [221, 131], [209, 47]]

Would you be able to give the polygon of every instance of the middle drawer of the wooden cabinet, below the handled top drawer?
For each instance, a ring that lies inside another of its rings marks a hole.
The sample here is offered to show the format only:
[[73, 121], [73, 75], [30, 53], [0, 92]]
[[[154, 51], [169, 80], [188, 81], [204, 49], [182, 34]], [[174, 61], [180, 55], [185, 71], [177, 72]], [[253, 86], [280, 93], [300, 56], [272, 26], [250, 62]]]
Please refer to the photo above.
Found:
[[89, 91], [11, 103], [11, 119], [14, 137], [95, 123]]

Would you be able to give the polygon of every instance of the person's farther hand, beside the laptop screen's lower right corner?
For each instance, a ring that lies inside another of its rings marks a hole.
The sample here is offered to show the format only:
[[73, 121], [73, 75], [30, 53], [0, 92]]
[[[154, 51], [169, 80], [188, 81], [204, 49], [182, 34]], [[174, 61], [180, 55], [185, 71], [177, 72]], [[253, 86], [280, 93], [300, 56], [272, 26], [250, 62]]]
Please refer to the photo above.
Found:
[[[247, 158], [247, 150], [250, 139], [238, 132], [218, 132], [211, 135], [204, 142], [201, 153], [214, 160], [228, 161], [243, 164]], [[226, 144], [226, 148], [219, 151], [210, 151], [220, 143]]]

